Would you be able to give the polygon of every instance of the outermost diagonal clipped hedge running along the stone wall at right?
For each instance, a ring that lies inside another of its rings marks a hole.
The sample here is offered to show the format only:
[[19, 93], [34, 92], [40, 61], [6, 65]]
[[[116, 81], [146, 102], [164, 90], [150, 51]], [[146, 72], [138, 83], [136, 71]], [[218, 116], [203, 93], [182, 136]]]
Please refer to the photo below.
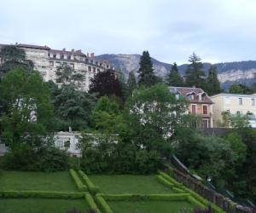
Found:
[[[197, 203], [201, 203], [205, 206], [211, 206], [212, 210], [214, 210], [216, 213], [224, 213], [224, 210], [221, 210], [216, 204], [212, 204], [207, 199], [202, 198], [201, 195], [190, 190], [188, 187], [183, 186], [182, 183], [174, 180], [171, 176], [168, 176], [166, 173], [160, 171], [159, 174], [160, 174], [160, 176], [166, 178], [167, 181], [170, 181], [172, 184], [174, 184], [176, 186], [176, 187], [174, 187], [175, 188], [174, 190], [177, 191], [177, 189], [179, 189], [185, 193], [189, 193], [195, 199], [195, 201]], [[192, 199], [189, 199], [189, 200], [192, 200]], [[194, 202], [194, 201], [192, 201], [192, 202]]]

